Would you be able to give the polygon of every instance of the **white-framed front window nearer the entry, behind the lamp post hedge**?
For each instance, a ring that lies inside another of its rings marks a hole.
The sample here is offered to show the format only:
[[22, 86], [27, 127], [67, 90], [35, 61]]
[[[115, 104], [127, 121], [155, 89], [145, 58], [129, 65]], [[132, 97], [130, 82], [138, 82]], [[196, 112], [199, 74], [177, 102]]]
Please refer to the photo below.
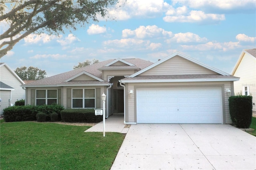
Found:
[[95, 89], [72, 89], [72, 108], [95, 108]]

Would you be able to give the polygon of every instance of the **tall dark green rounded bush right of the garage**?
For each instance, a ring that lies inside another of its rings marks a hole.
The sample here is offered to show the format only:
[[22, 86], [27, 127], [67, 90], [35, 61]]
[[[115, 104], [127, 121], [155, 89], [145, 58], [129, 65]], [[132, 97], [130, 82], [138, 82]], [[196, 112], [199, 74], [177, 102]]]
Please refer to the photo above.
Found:
[[233, 124], [238, 128], [249, 128], [252, 123], [252, 96], [231, 96], [228, 101]]

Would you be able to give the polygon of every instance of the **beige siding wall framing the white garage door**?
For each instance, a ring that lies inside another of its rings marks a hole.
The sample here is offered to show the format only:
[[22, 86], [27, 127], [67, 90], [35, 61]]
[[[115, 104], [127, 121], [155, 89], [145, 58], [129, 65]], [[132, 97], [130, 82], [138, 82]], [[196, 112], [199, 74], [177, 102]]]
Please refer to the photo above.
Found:
[[[223, 123], [231, 124], [229, 113], [228, 98], [226, 89], [232, 89], [232, 83], [230, 81], [223, 82], [186, 82], [186, 83], [126, 83], [126, 89], [128, 91], [133, 90], [132, 97], [126, 95], [126, 122], [136, 122], [136, 89], [147, 87], [222, 87], [222, 113]], [[128, 94], [128, 93], [126, 93]]]

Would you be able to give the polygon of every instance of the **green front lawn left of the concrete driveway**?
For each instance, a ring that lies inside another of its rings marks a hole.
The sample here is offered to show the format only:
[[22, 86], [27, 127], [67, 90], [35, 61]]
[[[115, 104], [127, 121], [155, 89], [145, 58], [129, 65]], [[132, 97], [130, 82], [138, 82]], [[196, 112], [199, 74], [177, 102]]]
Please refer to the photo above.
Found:
[[0, 167], [4, 169], [109, 170], [124, 140], [90, 127], [0, 121]]

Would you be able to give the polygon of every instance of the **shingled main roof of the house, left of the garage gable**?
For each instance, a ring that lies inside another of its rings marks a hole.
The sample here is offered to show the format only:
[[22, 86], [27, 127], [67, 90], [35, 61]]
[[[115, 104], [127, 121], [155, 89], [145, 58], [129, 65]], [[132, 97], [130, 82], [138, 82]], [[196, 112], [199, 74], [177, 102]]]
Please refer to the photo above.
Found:
[[[102, 61], [99, 63], [95, 63], [92, 65], [88, 65], [79, 69], [75, 69], [72, 71], [68, 71], [65, 73], [61, 73], [58, 75], [54, 75], [51, 77], [47, 77], [45, 79], [41, 79], [41, 80], [37, 80], [34, 81], [32, 83], [28, 83], [25, 85], [22, 85], [22, 87], [32, 87], [32, 86], [57, 86], [58, 84], [68, 84], [68, 83], [64, 83], [64, 81], [66, 81], [67, 79], [69, 79], [70, 77], [73, 77], [79, 73], [81, 73], [82, 71], [86, 71], [87, 73], [90, 73], [96, 77], [99, 77], [100, 79], [102, 78], [102, 72], [99, 70], [99, 68], [104, 67], [106, 64], [114, 61], [115, 59], [109, 59], [106, 61]], [[123, 59], [124, 61], [127, 61], [129, 63], [134, 64], [136, 67], [138, 67], [139, 69], [144, 69], [145, 67], [148, 67], [149, 65], [152, 64], [152, 62], [150, 61], [146, 61], [143, 59]], [[134, 67], [134, 66], [130, 66], [130, 67]]]

